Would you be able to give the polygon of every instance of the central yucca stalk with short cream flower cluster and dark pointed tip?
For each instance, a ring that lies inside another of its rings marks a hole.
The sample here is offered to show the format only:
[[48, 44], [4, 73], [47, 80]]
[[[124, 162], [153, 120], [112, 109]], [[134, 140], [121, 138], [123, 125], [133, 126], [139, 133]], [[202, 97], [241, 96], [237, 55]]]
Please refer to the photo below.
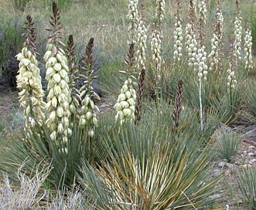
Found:
[[115, 103], [114, 109], [117, 111], [115, 116], [116, 122], [120, 120], [123, 124], [126, 120], [135, 120], [135, 102], [136, 102], [136, 91], [134, 89], [134, 84], [132, 79], [135, 79], [133, 73], [135, 72], [135, 45], [131, 43], [127, 59], [125, 59], [125, 65], [127, 66], [127, 71], [120, 71], [120, 73], [125, 73], [127, 80], [125, 84], [121, 87], [121, 93], [118, 96], [118, 102]]

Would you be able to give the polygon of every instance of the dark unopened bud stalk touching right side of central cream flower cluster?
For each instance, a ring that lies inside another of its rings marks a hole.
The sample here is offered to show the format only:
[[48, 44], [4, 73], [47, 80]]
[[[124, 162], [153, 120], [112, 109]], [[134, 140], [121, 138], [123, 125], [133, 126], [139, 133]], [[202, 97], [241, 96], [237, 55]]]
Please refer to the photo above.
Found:
[[137, 89], [137, 100], [135, 106], [135, 124], [141, 120], [142, 116], [142, 94], [143, 94], [143, 86], [145, 81], [145, 69], [142, 69], [139, 79], [138, 79], [138, 89]]

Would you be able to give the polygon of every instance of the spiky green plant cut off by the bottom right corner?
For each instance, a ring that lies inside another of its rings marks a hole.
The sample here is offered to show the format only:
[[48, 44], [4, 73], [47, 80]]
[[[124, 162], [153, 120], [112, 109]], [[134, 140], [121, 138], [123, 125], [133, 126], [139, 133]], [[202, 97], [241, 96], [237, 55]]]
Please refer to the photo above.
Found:
[[248, 210], [256, 209], [256, 168], [244, 168], [238, 172], [237, 182], [244, 207]]

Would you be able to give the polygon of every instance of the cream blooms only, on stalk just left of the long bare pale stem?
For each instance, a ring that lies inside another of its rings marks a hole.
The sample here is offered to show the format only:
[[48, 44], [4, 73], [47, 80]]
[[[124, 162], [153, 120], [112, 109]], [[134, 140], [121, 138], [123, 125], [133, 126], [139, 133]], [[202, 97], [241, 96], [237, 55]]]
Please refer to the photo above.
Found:
[[196, 68], [198, 66], [197, 63], [197, 47], [198, 43], [196, 41], [196, 35], [193, 32], [192, 24], [186, 24], [186, 37], [185, 37], [185, 45], [186, 45], [186, 52], [189, 56], [188, 65], [192, 68]]

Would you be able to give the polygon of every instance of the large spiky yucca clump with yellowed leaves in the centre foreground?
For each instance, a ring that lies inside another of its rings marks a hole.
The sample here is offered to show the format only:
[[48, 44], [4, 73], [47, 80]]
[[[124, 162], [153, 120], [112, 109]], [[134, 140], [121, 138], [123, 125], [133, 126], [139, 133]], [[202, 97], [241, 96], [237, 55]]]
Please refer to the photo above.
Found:
[[[217, 179], [208, 174], [209, 151], [201, 150], [200, 138], [172, 134], [172, 113], [165, 103], [162, 113], [148, 109], [143, 124], [124, 122], [101, 137], [107, 148], [101, 165], [86, 165], [80, 174], [84, 188], [94, 191], [98, 209], [213, 208], [209, 196]], [[185, 120], [179, 126], [190, 130]]]

